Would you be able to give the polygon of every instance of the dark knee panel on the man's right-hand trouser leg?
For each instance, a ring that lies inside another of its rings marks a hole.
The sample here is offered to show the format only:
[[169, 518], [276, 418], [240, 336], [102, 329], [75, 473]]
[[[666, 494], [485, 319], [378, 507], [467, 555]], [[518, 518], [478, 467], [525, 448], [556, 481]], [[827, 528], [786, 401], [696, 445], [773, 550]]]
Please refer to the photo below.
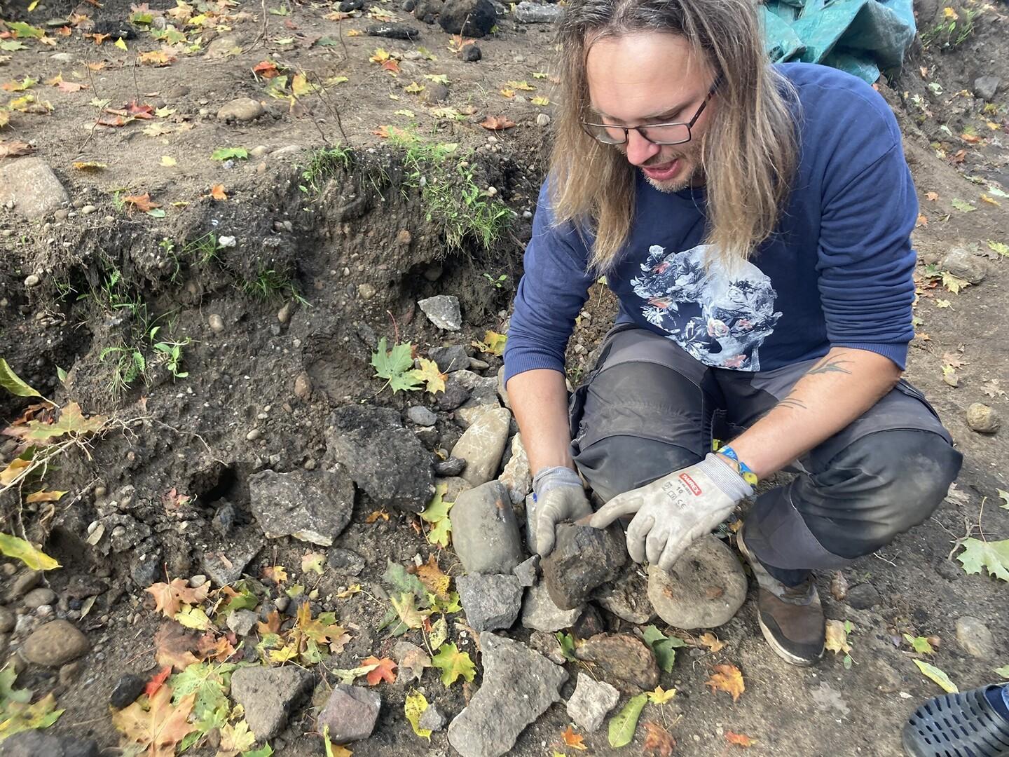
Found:
[[830, 552], [870, 554], [930, 516], [960, 472], [963, 455], [938, 434], [895, 429], [857, 439], [809, 476], [792, 504]]

